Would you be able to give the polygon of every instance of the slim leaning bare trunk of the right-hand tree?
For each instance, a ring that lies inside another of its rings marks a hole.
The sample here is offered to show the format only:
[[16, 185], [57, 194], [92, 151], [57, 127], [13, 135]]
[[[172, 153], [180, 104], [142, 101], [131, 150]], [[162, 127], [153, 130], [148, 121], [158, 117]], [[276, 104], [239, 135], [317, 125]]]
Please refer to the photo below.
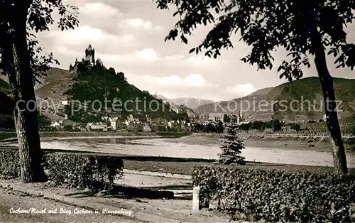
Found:
[[315, 66], [322, 86], [327, 127], [333, 148], [334, 169], [338, 174], [347, 174], [348, 168], [346, 166], [344, 143], [338, 121], [333, 79], [327, 67], [326, 55], [319, 33], [312, 39], [312, 47], [315, 52]]

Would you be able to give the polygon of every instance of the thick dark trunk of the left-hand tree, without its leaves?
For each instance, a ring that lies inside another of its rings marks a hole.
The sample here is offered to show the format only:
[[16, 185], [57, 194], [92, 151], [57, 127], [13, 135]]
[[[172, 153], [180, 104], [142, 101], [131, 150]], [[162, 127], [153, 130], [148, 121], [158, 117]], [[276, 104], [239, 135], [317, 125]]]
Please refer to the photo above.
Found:
[[[18, 3], [19, 4], [19, 3]], [[44, 182], [42, 151], [38, 132], [38, 113], [33, 87], [33, 71], [27, 45], [26, 21], [28, 6], [16, 5], [9, 18], [9, 31], [3, 48], [2, 60], [13, 91], [16, 107], [13, 117], [18, 138], [23, 183]]]

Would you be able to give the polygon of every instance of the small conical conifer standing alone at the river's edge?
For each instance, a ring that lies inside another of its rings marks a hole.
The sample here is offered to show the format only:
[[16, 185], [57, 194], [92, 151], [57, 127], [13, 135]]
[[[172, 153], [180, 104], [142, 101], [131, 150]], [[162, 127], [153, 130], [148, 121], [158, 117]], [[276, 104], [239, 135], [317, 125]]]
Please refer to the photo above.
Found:
[[241, 151], [245, 148], [243, 141], [237, 136], [238, 126], [228, 125], [224, 129], [219, 147], [219, 163], [225, 165], [244, 165], [245, 157], [241, 156]]

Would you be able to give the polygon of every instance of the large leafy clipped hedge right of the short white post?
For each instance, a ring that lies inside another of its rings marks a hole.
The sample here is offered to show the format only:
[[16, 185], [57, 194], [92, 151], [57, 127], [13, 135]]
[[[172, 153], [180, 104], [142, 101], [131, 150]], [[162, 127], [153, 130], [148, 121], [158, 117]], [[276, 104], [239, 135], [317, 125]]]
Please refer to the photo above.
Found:
[[200, 205], [217, 200], [218, 210], [232, 219], [351, 222], [353, 175], [202, 166], [194, 169], [192, 181], [200, 185]]

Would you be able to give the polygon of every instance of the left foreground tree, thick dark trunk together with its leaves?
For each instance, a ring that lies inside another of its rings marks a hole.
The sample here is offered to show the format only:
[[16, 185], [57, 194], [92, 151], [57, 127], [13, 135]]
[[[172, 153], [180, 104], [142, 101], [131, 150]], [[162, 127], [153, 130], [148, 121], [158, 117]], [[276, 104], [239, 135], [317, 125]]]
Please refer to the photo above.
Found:
[[44, 75], [49, 65], [58, 61], [52, 54], [38, 55], [41, 49], [31, 31], [48, 31], [53, 24], [53, 9], [60, 13], [62, 30], [77, 26], [76, 7], [65, 6], [61, 0], [0, 0], [0, 69], [9, 77], [16, 102], [13, 116], [23, 183], [46, 180], [34, 84], [36, 77]]

